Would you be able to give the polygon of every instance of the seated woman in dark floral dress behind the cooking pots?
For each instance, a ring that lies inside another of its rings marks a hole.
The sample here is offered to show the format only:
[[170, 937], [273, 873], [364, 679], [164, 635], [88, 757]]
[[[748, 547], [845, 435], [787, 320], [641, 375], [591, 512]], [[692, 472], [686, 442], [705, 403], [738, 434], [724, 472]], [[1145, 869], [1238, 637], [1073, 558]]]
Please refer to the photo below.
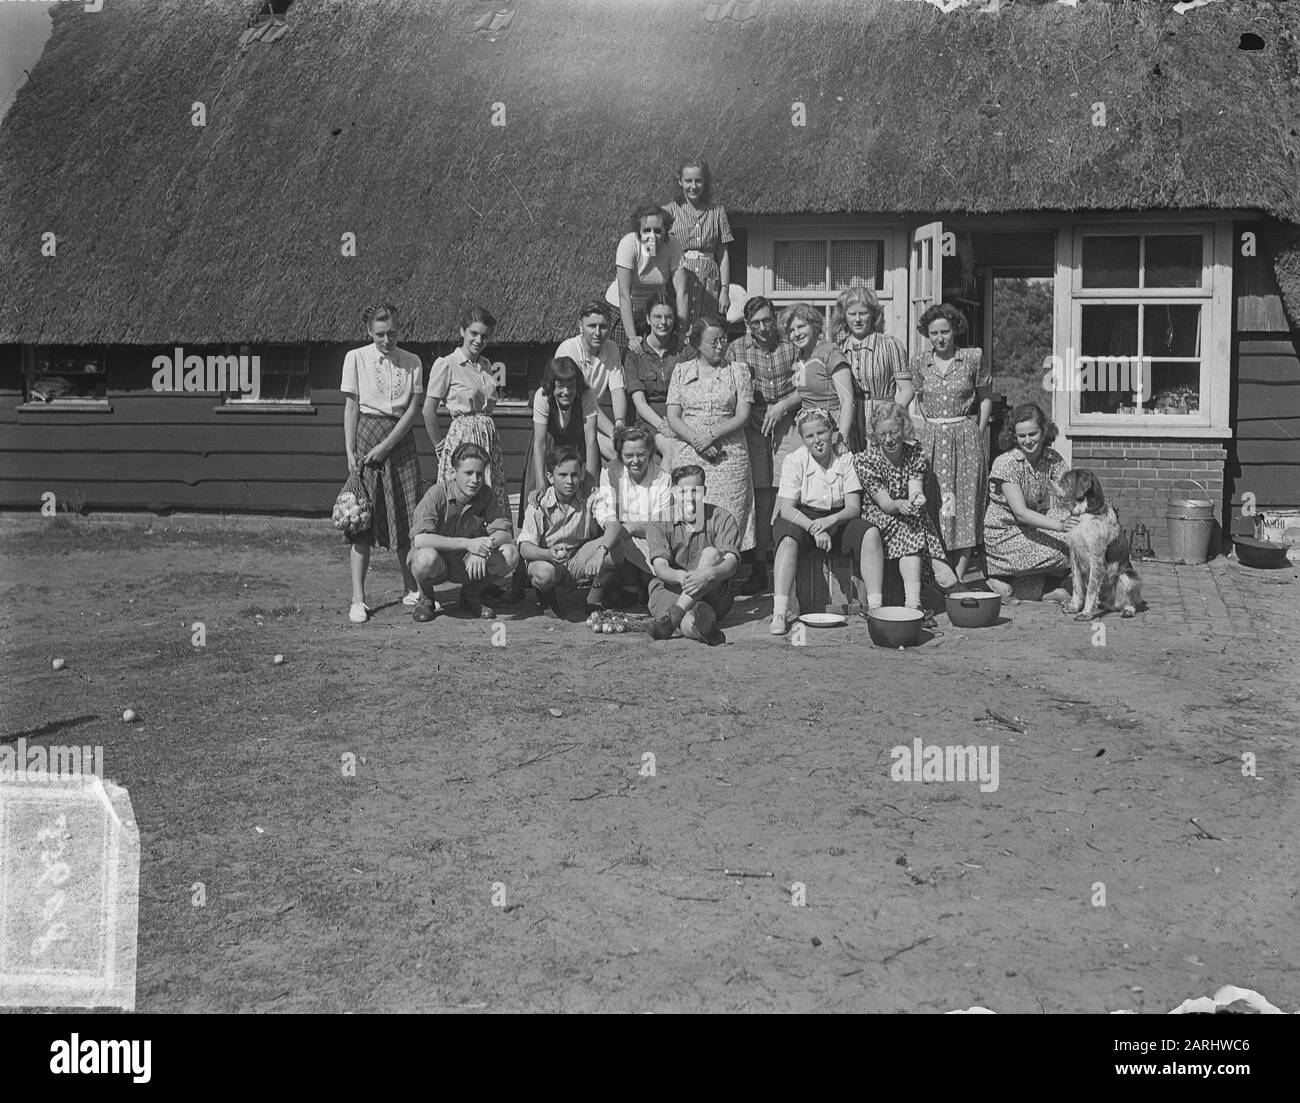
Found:
[[926, 454], [914, 440], [911, 418], [897, 403], [872, 410], [867, 431], [870, 442], [854, 457], [862, 519], [871, 525], [862, 541], [867, 609], [884, 602], [885, 559], [898, 561], [904, 601], [920, 609], [924, 581], [933, 579], [941, 589], [957, 584], [933, 514], [926, 509], [924, 485], [931, 479]]

